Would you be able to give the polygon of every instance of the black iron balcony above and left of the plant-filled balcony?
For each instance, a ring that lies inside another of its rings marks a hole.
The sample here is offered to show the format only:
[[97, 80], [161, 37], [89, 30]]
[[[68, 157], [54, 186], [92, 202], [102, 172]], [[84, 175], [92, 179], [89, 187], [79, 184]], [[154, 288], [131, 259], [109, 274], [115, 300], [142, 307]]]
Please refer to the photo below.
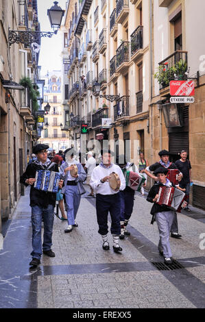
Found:
[[131, 60], [137, 60], [143, 55], [143, 26], [138, 26], [130, 36]]

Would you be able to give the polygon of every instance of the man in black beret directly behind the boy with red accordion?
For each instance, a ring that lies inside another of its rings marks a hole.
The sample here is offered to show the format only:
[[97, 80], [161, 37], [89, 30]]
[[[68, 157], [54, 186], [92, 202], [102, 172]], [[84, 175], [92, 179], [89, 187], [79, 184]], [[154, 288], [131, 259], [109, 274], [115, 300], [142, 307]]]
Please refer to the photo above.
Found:
[[[178, 166], [176, 166], [176, 164], [169, 161], [169, 155], [170, 155], [169, 151], [162, 150], [158, 153], [158, 155], [160, 156], [159, 162], [156, 162], [150, 166], [147, 166], [146, 169], [141, 171], [141, 173], [146, 173], [149, 177], [152, 177], [152, 179], [154, 179], [154, 180], [158, 180], [158, 178], [155, 175], [152, 175], [152, 173], [150, 173], [150, 171], [156, 171], [156, 169], [158, 169], [160, 166], [163, 166], [167, 170], [178, 169]], [[179, 180], [182, 179], [182, 176], [183, 175], [180, 172]], [[171, 226], [171, 237], [178, 238], [178, 239], [180, 239], [182, 237], [182, 235], [180, 235], [178, 233], [178, 219], [177, 219], [176, 212], [174, 215], [173, 224]]]

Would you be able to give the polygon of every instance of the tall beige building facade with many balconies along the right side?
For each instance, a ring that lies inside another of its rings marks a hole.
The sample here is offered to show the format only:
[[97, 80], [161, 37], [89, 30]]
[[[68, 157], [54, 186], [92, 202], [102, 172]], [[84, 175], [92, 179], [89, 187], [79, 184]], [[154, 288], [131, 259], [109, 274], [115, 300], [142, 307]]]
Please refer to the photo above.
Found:
[[[185, 0], [71, 0], [67, 4], [67, 125], [75, 145], [82, 147], [80, 125], [87, 123], [89, 147], [99, 150], [108, 140], [117, 155], [125, 153], [135, 163], [139, 151], [152, 164], [160, 149], [169, 149], [172, 161], [186, 149], [193, 166], [191, 199], [205, 208], [205, 48], [198, 40], [203, 38], [204, 1], [187, 0], [185, 5]], [[169, 104], [169, 82], [180, 79], [193, 80], [194, 103]], [[94, 90], [96, 82], [100, 92]], [[148, 181], [147, 188], [151, 184]]]

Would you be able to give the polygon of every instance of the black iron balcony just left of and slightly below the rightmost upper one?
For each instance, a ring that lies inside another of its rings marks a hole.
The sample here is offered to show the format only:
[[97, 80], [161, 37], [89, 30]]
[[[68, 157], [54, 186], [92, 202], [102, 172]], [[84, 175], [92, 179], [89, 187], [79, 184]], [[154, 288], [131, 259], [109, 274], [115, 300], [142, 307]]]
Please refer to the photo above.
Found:
[[130, 64], [130, 42], [123, 41], [116, 51], [117, 73], [124, 73]]

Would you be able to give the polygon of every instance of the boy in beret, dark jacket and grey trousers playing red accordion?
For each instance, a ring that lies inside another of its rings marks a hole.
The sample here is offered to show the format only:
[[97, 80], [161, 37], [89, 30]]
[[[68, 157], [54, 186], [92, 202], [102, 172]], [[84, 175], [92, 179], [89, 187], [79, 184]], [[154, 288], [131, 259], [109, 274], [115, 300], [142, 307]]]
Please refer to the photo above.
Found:
[[158, 177], [158, 182], [152, 186], [149, 194], [147, 196], [147, 201], [154, 203], [151, 209], [152, 221], [156, 221], [158, 225], [158, 230], [160, 233], [160, 240], [158, 243], [158, 250], [160, 255], [164, 256], [165, 264], [172, 264], [173, 260], [171, 258], [171, 248], [169, 244], [169, 233], [171, 230], [171, 225], [175, 216], [175, 212], [170, 210], [167, 206], [159, 205], [156, 203], [158, 199], [158, 191], [160, 186], [171, 187], [173, 184], [167, 179], [168, 170], [164, 167], [158, 168], [154, 171], [154, 175]]

